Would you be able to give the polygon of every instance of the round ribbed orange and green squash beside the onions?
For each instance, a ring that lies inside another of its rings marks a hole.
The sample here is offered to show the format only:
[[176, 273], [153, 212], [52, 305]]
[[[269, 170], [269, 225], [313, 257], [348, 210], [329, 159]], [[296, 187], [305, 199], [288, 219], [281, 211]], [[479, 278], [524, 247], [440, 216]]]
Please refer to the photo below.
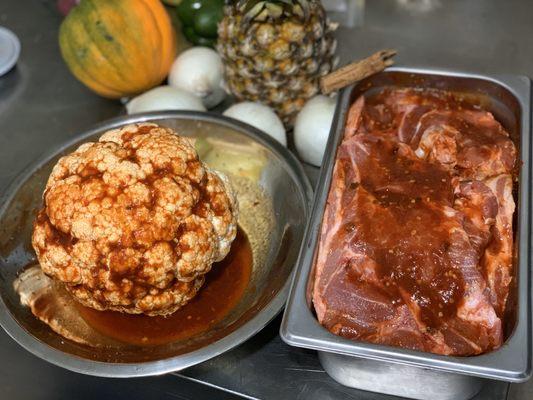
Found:
[[82, 0], [59, 30], [71, 72], [109, 98], [159, 85], [176, 58], [176, 36], [159, 0]]

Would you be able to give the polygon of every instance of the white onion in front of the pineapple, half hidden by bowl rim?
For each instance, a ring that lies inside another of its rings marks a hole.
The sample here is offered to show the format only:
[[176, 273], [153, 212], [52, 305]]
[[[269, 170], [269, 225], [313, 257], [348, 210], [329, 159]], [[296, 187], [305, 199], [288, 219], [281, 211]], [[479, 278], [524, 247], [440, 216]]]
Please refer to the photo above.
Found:
[[283, 146], [287, 146], [287, 134], [283, 123], [270, 107], [261, 103], [244, 101], [232, 105], [223, 115], [246, 122], [253, 127], [267, 133]]

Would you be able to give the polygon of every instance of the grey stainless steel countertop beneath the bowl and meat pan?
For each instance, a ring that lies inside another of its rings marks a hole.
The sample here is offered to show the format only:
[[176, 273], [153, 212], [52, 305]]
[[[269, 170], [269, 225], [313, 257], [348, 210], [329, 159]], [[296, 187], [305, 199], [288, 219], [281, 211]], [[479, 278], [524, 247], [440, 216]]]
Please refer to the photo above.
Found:
[[[414, 3], [434, 4], [420, 12]], [[339, 29], [341, 61], [394, 47], [399, 63], [533, 76], [533, 2], [530, 0], [369, 0], [362, 27]], [[22, 42], [17, 67], [0, 77], [0, 191], [50, 146], [121, 112], [66, 70], [57, 45], [61, 21], [55, 0], [2, 0], [0, 25]], [[313, 175], [316, 171], [308, 168]], [[237, 349], [183, 371], [131, 380], [78, 375], [30, 355], [0, 333], [0, 387], [12, 399], [389, 399], [332, 381], [312, 351], [281, 342], [280, 319]], [[478, 399], [533, 398], [533, 381], [488, 382]]]

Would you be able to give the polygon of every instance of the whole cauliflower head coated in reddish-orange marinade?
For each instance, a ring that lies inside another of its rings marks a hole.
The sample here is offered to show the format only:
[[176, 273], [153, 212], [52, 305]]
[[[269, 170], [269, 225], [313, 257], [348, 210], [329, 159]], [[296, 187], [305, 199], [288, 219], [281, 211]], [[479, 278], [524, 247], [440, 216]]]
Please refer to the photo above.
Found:
[[41, 268], [98, 310], [176, 311], [237, 232], [227, 178], [155, 124], [108, 131], [61, 158], [43, 199], [32, 237]]

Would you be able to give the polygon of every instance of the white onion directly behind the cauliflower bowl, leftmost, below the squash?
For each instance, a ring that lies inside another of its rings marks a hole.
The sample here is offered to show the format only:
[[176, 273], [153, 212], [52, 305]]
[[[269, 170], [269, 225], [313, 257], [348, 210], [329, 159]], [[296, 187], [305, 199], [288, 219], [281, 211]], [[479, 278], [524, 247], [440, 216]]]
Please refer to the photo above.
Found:
[[128, 114], [161, 110], [205, 111], [205, 107], [195, 95], [172, 86], [158, 86], [126, 104]]

